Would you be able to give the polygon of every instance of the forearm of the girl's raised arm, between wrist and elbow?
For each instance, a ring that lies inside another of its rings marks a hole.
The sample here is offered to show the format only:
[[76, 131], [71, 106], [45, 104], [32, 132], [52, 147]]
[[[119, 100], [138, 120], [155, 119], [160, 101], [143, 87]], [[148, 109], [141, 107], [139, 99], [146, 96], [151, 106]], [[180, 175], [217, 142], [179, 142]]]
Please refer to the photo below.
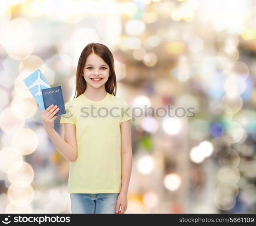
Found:
[[64, 141], [64, 139], [58, 134], [58, 132], [56, 132], [54, 128], [49, 131], [46, 130], [46, 132], [53, 142], [55, 148], [66, 160], [73, 162], [77, 159], [77, 150], [69, 143]]

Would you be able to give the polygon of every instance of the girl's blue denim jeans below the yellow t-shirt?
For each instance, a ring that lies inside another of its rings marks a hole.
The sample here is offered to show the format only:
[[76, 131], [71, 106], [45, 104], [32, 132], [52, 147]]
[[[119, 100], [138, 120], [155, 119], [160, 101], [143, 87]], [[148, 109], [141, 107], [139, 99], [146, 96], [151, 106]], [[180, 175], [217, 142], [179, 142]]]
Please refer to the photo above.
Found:
[[115, 213], [119, 193], [70, 193], [72, 213]]

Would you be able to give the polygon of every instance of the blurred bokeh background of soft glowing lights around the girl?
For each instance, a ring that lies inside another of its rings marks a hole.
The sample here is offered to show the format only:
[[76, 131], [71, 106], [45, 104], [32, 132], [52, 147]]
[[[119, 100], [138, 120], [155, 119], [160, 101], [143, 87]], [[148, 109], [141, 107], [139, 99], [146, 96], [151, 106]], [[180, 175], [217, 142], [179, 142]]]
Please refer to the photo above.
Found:
[[131, 121], [126, 213], [255, 213], [252, 0], [1, 0], [0, 213], [71, 212], [69, 162], [23, 79], [39, 68], [73, 99], [90, 42], [115, 57], [117, 97], [159, 109]]

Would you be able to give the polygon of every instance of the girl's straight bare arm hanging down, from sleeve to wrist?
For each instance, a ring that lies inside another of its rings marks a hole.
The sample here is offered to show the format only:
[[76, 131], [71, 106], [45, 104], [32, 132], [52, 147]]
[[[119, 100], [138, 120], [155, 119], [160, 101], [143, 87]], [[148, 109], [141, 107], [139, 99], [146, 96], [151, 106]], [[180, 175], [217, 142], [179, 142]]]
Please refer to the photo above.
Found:
[[121, 192], [127, 195], [132, 168], [132, 148], [130, 120], [122, 122], [121, 125], [121, 160], [122, 160], [122, 183]]

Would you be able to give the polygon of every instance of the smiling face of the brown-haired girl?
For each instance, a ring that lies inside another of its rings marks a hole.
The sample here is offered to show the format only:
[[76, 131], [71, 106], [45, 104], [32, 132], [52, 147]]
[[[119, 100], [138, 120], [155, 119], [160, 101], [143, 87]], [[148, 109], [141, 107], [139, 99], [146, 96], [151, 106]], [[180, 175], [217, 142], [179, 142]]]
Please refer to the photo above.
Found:
[[100, 56], [92, 53], [87, 57], [82, 76], [84, 76], [87, 85], [100, 88], [108, 80], [109, 72], [110, 68], [106, 62]]

